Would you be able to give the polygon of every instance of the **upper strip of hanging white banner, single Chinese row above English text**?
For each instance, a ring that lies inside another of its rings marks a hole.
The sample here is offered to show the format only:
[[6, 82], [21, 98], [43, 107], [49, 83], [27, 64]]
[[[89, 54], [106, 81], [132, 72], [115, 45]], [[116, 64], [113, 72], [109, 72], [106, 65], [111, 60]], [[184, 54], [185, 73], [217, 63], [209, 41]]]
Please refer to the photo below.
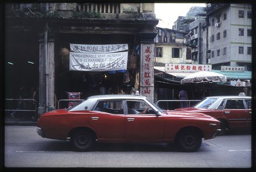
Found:
[[70, 51], [77, 53], [115, 53], [128, 50], [128, 44], [84, 45], [70, 44]]

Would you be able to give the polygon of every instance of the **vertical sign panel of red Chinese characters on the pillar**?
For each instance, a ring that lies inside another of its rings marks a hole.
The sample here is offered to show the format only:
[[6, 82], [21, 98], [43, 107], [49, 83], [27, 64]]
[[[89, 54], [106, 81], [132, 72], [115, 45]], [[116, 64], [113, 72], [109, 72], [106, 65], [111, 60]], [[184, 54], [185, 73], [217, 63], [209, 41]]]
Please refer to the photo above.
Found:
[[154, 95], [154, 68], [153, 68], [153, 46], [152, 44], [142, 45], [141, 68], [140, 68], [140, 94], [153, 100]]

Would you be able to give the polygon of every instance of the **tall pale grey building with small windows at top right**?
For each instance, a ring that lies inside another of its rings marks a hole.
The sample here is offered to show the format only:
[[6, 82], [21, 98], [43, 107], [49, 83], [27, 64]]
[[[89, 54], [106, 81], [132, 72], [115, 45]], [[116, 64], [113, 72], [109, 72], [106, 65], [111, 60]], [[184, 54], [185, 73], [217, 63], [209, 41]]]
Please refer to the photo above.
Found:
[[207, 4], [207, 58], [212, 69], [242, 66], [251, 70], [251, 4]]

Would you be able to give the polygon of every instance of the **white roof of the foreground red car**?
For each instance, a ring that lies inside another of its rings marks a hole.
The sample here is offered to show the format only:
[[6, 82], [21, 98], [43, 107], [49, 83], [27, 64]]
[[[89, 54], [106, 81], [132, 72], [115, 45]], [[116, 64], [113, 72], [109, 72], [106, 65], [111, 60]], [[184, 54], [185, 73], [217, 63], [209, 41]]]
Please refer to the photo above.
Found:
[[97, 95], [90, 96], [87, 99], [145, 99], [145, 96], [140, 95]]

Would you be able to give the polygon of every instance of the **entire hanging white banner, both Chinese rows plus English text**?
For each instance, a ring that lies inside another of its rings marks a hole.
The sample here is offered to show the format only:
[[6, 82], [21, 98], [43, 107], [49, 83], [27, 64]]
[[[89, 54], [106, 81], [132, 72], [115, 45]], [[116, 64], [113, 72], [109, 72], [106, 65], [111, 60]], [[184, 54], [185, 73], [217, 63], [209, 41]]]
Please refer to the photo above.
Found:
[[[69, 68], [77, 71], [109, 71], [127, 68], [127, 44], [74, 45], [70, 44]], [[112, 48], [109, 48], [112, 47]], [[76, 51], [76, 52], [73, 52]]]

